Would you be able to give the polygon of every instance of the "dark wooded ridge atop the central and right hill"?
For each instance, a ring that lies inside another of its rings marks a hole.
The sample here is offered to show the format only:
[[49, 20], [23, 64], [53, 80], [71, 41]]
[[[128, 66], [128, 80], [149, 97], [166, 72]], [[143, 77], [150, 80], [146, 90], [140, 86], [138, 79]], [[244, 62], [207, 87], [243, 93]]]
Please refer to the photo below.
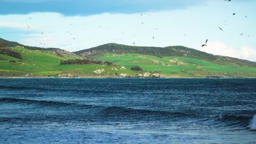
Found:
[[210, 53], [190, 49], [184, 46], [168, 46], [168, 47], [146, 47], [146, 46], [128, 46], [120, 44], [104, 44], [91, 49], [73, 52], [78, 56], [82, 57], [94, 57], [104, 55], [106, 53], [136, 53], [140, 55], [158, 56], [158, 57], [190, 57], [196, 59], [202, 59], [204, 61], [214, 62], [217, 59], [222, 59], [225, 62], [231, 62], [239, 65], [245, 65], [249, 67], [256, 67], [256, 62], [250, 62], [243, 59], [215, 56]]

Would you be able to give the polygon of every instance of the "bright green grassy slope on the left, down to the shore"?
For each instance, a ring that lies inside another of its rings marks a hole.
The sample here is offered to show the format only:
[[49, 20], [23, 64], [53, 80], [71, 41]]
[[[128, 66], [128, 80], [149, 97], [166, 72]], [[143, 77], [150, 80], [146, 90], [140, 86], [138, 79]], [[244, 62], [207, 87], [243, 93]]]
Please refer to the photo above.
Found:
[[[3, 48], [2, 48], [3, 49]], [[117, 65], [72, 64], [60, 65], [61, 61], [82, 59], [77, 56], [51, 51], [27, 50], [24, 47], [8, 47], [21, 54], [21, 59], [0, 54], [0, 77], [119, 77], [119, 74], [135, 76], [135, 71]], [[14, 62], [10, 62], [14, 61]]]

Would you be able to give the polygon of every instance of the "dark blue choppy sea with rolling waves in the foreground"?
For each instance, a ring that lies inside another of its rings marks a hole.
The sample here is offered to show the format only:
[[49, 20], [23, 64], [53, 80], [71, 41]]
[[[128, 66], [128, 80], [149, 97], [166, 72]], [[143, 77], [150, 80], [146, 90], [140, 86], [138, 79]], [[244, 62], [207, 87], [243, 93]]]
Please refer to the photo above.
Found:
[[0, 79], [0, 143], [256, 143], [256, 79]]

